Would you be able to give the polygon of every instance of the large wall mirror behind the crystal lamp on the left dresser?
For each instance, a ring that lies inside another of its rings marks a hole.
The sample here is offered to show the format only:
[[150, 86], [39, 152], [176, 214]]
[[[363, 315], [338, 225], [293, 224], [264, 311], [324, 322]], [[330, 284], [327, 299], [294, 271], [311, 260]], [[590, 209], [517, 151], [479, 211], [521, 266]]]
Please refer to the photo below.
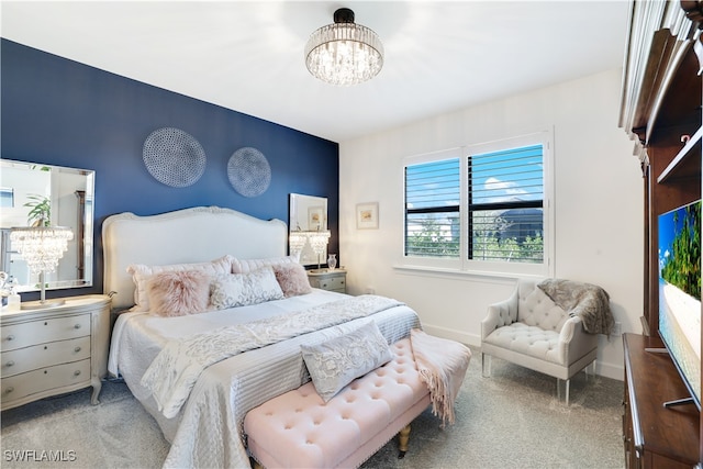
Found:
[[92, 286], [93, 189], [94, 171], [0, 159], [0, 270], [20, 292], [38, 290], [38, 272], [13, 250], [10, 232], [32, 226], [37, 216], [74, 233], [56, 270], [45, 275], [46, 289]]

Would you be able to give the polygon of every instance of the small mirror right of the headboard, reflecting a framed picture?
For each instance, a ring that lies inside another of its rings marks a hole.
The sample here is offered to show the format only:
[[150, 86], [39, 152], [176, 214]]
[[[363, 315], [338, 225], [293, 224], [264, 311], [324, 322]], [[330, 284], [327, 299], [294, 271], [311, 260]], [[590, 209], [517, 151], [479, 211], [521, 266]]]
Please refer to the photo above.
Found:
[[288, 248], [292, 256], [300, 253], [300, 264], [312, 266], [327, 261], [327, 246], [315, 253], [304, 233], [327, 231], [327, 199], [324, 197], [290, 194]]

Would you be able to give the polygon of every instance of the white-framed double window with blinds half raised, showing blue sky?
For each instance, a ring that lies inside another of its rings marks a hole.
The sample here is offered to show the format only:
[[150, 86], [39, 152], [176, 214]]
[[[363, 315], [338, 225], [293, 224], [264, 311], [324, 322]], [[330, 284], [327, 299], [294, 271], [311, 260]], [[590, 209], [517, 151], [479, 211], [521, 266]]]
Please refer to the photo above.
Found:
[[550, 134], [406, 161], [405, 261], [549, 273]]

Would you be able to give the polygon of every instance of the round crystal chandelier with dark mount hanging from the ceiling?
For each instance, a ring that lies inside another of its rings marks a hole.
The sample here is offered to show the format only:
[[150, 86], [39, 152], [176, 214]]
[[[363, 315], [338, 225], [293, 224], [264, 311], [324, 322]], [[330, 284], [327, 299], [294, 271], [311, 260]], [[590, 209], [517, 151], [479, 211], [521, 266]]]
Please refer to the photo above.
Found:
[[376, 77], [383, 67], [383, 45], [378, 34], [354, 22], [354, 12], [341, 8], [334, 24], [322, 26], [308, 40], [305, 66], [332, 85], [358, 85]]

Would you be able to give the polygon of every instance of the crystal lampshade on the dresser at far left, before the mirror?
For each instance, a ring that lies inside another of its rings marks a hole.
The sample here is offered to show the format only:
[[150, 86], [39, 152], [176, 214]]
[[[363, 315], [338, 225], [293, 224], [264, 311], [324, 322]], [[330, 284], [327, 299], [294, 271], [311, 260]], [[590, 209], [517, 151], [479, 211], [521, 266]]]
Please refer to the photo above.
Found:
[[56, 269], [72, 238], [74, 233], [64, 226], [13, 227], [10, 234], [12, 247], [30, 269], [40, 272], [53, 272]]

